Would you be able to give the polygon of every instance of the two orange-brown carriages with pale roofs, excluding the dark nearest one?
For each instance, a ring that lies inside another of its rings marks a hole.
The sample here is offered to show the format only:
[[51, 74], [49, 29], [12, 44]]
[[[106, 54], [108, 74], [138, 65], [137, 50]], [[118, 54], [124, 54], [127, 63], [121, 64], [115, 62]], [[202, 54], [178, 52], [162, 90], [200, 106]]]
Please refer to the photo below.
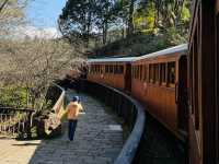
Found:
[[187, 138], [187, 44], [141, 57], [90, 59], [88, 80], [131, 94], [178, 139]]

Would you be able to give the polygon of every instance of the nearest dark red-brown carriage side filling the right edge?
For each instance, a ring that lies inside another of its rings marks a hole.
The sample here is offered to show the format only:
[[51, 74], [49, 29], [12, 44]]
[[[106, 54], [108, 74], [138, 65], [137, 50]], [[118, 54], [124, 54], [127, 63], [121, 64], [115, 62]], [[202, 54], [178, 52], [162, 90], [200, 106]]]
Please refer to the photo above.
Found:
[[189, 163], [219, 164], [219, 0], [194, 0], [189, 34]]

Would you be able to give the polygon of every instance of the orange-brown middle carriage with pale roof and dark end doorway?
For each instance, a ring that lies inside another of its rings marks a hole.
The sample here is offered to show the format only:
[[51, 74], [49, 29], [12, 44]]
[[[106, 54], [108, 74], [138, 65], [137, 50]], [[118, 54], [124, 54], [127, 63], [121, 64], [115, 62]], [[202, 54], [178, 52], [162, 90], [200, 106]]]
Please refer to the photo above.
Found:
[[180, 139], [187, 131], [187, 45], [137, 58], [132, 62], [131, 94]]

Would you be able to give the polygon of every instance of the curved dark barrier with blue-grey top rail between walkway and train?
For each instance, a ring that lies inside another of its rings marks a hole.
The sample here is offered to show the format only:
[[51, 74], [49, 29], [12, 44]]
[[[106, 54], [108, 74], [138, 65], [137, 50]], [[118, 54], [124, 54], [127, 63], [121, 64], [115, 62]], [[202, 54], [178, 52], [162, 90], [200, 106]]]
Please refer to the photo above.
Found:
[[114, 163], [135, 163], [146, 121], [143, 107], [136, 99], [114, 87], [87, 80], [80, 80], [78, 85], [81, 91], [96, 96], [123, 117], [128, 127], [129, 136]]

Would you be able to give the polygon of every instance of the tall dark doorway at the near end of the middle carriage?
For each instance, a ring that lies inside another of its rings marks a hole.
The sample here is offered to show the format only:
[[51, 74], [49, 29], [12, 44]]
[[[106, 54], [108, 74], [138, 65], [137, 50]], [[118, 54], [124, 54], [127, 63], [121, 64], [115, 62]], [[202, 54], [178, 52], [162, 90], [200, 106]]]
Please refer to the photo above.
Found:
[[176, 87], [177, 127], [181, 132], [187, 133], [188, 105], [187, 105], [187, 58], [182, 56], [178, 60], [178, 83]]

